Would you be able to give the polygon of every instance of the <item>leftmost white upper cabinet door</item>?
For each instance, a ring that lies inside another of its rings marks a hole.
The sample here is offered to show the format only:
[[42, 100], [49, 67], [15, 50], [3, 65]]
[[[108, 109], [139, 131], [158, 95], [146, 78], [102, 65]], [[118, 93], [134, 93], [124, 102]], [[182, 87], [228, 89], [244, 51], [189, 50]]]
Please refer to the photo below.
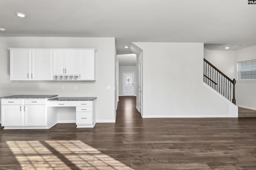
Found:
[[30, 50], [10, 50], [10, 80], [30, 79]]

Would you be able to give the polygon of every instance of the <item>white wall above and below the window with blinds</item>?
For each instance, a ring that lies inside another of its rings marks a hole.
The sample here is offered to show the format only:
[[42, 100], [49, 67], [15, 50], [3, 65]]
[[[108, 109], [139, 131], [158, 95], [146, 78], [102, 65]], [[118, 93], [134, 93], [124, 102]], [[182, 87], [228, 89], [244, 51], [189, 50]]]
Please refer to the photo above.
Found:
[[[236, 51], [236, 61], [256, 59], [256, 45]], [[256, 81], [236, 81], [236, 105], [256, 110]]]

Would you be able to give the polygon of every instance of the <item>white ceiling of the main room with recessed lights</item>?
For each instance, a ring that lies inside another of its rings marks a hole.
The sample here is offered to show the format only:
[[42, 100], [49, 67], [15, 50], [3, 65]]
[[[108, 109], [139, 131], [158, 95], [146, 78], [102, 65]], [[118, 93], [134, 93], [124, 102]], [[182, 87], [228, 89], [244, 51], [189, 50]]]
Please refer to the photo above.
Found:
[[[15, 12], [23, 12], [19, 18]], [[256, 44], [247, 0], [0, 0], [0, 36], [115, 37], [131, 42]]]

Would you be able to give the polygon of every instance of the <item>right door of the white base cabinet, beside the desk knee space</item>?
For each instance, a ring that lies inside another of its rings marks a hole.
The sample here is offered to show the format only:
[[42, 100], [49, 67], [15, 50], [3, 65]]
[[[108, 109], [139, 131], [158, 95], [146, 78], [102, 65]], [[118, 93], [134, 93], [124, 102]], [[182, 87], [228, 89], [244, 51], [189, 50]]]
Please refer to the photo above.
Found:
[[46, 126], [45, 105], [24, 105], [25, 126]]

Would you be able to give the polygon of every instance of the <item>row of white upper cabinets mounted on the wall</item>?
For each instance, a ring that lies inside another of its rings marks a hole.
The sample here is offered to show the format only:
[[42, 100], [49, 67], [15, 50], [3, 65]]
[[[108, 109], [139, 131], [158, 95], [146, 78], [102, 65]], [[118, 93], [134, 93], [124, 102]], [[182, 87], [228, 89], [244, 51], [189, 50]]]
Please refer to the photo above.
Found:
[[95, 48], [8, 49], [10, 80], [95, 80]]

